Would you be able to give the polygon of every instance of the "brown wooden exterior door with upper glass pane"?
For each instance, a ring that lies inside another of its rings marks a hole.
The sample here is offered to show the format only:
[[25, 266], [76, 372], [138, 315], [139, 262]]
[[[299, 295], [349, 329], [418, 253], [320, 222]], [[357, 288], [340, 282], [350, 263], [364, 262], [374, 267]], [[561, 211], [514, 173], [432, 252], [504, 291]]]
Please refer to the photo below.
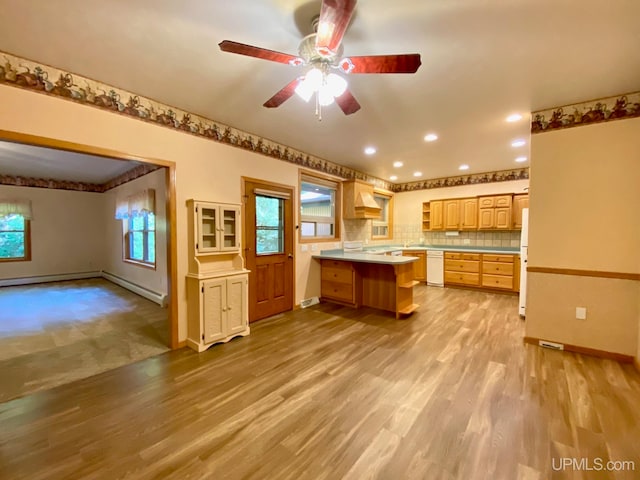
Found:
[[293, 309], [294, 188], [243, 178], [249, 322]]

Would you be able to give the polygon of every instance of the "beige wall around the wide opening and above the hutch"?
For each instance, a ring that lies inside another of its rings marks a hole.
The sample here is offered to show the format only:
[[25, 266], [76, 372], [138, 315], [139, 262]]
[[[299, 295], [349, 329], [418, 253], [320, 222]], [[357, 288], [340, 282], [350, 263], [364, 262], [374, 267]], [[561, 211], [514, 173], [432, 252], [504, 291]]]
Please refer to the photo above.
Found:
[[[242, 175], [291, 185], [297, 191], [295, 165], [246, 150], [4, 85], [0, 85], [0, 105], [0, 129], [175, 162], [180, 340], [186, 338], [186, 201], [240, 203]], [[307, 287], [304, 272], [313, 268], [310, 262], [309, 254], [296, 258], [296, 303], [320, 293], [319, 285]]]

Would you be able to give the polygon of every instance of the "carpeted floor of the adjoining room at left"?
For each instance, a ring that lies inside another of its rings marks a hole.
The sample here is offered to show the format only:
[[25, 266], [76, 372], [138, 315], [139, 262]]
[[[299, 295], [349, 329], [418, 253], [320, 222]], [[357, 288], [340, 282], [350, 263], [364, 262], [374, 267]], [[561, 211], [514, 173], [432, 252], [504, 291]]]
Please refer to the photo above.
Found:
[[101, 279], [0, 288], [0, 402], [169, 350], [168, 311]]

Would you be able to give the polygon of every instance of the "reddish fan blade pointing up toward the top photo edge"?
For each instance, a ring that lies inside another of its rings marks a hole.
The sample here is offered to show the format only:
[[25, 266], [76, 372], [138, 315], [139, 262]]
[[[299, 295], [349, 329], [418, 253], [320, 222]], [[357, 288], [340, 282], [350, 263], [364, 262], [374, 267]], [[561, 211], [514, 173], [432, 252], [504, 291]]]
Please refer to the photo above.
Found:
[[323, 0], [318, 21], [316, 50], [330, 56], [337, 52], [356, 8], [356, 0]]

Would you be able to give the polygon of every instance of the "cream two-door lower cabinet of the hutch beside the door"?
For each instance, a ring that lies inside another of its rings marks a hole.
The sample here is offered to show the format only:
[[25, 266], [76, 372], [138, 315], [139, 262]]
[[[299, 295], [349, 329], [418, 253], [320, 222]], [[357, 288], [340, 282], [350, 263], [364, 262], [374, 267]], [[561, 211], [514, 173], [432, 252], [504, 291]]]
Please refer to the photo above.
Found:
[[248, 275], [187, 277], [187, 344], [198, 352], [249, 334]]

